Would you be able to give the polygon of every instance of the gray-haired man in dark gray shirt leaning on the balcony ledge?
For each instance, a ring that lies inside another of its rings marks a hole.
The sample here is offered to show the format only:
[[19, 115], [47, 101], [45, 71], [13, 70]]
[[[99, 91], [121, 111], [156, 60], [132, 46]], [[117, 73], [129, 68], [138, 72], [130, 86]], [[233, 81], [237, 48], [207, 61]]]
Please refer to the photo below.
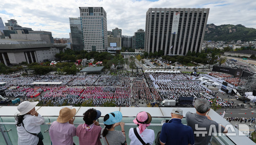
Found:
[[208, 100], [200, 98], [195, 100], [195, 110], [197, 113], [186, 113], [187, 125], [194, 131], [195, 145], [208, 145], [211, 134], [228, 133], [228, 130], [221, 124], [211, 120], [206, 113], [210, 110]]

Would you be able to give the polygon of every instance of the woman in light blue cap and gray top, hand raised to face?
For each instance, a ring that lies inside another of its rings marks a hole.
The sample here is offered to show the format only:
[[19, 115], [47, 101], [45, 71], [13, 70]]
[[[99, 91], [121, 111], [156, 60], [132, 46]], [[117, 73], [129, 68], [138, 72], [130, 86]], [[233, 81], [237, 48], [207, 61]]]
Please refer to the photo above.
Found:
[[[122, 113], [115, 111], [105, 115], [103, 123], [105, 128], [101, 130], [101, 138], [105, 145], [122, 145], [126, 141], [124, 122], [122, 120]], [[121, 127], [121, 131], [115, 130], [116, 126]]]

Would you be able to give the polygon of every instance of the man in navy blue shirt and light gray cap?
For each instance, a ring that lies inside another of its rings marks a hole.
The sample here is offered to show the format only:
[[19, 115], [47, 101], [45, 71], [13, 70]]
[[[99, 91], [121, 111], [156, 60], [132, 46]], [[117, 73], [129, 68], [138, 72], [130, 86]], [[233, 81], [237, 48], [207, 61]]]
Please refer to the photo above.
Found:
[[160, 134], [161, 145], [194, 145], [194, 132], [190, 126], [181, 123], [183, 111], [173, 108], [172, 119], [164, 123]]

